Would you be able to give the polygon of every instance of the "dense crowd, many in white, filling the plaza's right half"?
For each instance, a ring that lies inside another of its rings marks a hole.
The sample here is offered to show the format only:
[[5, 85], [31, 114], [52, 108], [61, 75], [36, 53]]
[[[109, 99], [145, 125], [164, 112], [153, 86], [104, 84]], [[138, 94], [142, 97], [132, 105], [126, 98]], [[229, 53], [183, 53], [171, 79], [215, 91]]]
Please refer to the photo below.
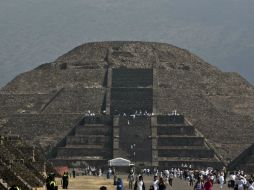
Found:
[[[107, 172], [108, 178], [112, 174], [111, 171], [109, 169]], [[116, 174], [113, 176], [116, 190], [123, 190], [122, 179]], [[143, 180], [145, 176], [153, 176], [153, 180], [149, 184], [145, 184]], [[228, 186], [234, 190], [254, 190], [253, 176], [248, 176], [243, 171], [227, 173], [225, 169], [218, 171], [212, 168], [194, 170], [190, 166], [184, 169], [172, 168], [163, 171], [143, 169], [139, 173], [135, 173], [132, 169], [127, 178], [128, 189], [145, 190], [145, 187], [148, 186], [149, 190], [166, 190], [167, 187], [174, 186], [175, 178], [180, 179], [183, 183], [187, 182], [190, 188], [194, 190], [212, 190], [214, 184], [218, 184], [220, 189]]]

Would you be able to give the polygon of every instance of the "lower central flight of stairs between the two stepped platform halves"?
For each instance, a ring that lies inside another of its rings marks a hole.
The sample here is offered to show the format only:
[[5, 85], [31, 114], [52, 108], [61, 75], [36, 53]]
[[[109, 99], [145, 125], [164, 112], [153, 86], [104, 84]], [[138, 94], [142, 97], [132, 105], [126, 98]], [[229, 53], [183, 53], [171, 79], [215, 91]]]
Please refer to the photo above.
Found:
[[151, 118], [120, 116], [115, 120], [118, 122], [114, 122], [113, 157], [128, 159], [139, 166], [151, 166]]

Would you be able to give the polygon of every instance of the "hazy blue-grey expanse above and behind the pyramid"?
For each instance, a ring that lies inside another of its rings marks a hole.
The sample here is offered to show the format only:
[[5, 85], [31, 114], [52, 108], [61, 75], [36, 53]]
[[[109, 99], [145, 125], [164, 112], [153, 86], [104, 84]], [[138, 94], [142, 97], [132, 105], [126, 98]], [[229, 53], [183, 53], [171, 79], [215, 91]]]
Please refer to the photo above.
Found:
[[0, 0], [0, 86], [111, 40], [170, 43], [254, 84], [254, 0]]

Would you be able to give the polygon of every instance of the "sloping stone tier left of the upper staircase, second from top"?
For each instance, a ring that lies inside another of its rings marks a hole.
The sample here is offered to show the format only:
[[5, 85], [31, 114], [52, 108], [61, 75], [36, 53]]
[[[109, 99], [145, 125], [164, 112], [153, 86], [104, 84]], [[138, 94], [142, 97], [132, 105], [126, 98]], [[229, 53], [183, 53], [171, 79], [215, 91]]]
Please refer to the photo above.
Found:
[[69, 86], [101, 88], [106, 69], [58, 69], [53, 64], [17, 76], [1, 89], [4, 93], [49, 93]]

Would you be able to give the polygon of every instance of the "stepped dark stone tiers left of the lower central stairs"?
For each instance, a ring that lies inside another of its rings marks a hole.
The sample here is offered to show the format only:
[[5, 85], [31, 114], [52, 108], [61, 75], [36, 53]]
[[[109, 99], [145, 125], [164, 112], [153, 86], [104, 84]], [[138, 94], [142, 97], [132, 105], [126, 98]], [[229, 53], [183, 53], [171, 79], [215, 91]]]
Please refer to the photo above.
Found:
[[112, 158], [112, 118], [110, 116], [84, 117], [73, 133], [58, 146], [55, 166], [103, 166]]

